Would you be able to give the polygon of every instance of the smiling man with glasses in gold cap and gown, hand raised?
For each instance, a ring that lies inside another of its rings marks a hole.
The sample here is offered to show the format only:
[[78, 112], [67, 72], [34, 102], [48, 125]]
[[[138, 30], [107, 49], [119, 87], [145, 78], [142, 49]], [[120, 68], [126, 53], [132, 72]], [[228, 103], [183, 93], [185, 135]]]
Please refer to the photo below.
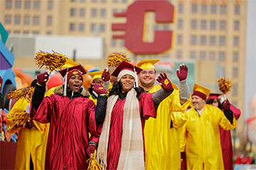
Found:
[[[140, 86], [147, 93], [161, 89], [154, 84], [156, 70], [154, 64], [160, 60], [142, 60], [137, 63], [142, 72], [139, 73]], [[180, 140], [178, 128], [186, 123], [187, 116], [183, 112], [190, 103], [190, 93], [186, 77], [188, 67], [182, 64], [177, 71], [180, 89], [173, 83], [174, 91], [159, 104], [156, 118], [146, 120], [144, 139], [146, 149], [146, 169], [181, 169]], [[159, 147], [161, 146], [161, 147]]]

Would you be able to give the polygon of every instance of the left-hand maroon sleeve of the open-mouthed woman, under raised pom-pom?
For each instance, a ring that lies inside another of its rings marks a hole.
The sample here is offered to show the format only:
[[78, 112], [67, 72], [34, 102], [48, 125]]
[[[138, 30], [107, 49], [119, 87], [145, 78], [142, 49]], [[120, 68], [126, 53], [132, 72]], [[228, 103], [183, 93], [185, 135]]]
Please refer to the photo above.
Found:
[[54, 103], [54, 95], [50, 95], [50, 97], [44, 97], [37, 111], [35, 108], [33, 108], [33, 104], [31, 103], [31, 118], [33, 120], [37, 120], [40, 123], [50, 123], [50, 118], [54, 111]]

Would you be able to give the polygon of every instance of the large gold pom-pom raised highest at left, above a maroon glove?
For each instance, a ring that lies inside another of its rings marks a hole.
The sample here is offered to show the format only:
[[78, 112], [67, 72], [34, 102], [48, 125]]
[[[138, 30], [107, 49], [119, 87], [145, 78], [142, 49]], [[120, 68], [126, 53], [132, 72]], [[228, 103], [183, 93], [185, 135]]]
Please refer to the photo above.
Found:
[[34, 60], [39, 69], [45, 66], [51, 73], [53, 70], [62, 67], [67, 59], [68, 58], [62, 53], [53, 51], [53, 54], [50, 54], [49, 52], [43, 52], [40, 50], [39, 52], [36, 52]]

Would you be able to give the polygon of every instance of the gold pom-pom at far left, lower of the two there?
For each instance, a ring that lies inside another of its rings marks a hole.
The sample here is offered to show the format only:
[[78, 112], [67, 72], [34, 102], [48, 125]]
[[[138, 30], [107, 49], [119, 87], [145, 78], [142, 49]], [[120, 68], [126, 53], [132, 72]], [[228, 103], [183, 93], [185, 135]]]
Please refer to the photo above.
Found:
[[29, 120], [29, 114], [22, 109], [14, 109], [10, 114], [10, 118], [14, 121], [14, 124], [18, 127], [25, 127], [26, 121]]

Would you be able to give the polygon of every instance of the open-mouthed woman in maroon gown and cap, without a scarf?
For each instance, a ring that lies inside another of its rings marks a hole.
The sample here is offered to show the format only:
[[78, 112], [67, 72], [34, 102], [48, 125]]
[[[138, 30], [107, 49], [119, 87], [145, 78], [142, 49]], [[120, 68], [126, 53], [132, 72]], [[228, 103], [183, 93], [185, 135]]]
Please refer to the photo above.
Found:
[[100, 124], [105, 118], [106, 90], [102, 85], [92, 85], [98, 94], [95, 106], [81, 88], [82, 74], [86, 74], [81, 65], [59, 72], [65, 77], [65, 85], [55, 89], [54, 94], [43, 97], [48, 74], [38, 74], [32, 98], [31, 119], [50, 123], [45, 169], [87, 169], [86, 160], [95, 152]]

